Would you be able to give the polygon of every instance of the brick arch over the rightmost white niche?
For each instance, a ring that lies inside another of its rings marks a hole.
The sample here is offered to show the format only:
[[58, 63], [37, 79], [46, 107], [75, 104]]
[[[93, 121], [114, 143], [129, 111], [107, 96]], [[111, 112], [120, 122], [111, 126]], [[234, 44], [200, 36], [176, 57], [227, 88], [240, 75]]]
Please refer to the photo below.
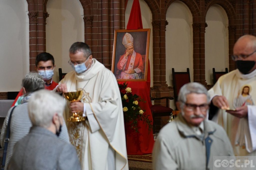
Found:
[[210, 1], [209, 3], [207, 3], [206, 4], [207, 6], [205, 6], [204, 17], [206, 17], [207, 11], [214, 4], [218, 4], [221, 7], [223, 7], [223, 9], [226, 11], [226, 14], [228, 16], [229, 24], [235, 24], [235, 20], [236, 20], [236, 12], [235, 11], [236, 10], [235, 10], [234, 6], [228, 0], [213, 0], [213, 1]]

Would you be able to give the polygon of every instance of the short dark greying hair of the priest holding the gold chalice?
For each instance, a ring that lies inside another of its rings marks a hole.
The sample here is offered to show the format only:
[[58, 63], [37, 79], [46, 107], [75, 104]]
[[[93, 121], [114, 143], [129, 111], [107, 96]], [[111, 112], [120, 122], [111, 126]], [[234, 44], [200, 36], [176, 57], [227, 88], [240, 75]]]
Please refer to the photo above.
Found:
[[73, 43], [69, 49], [69, 53], [76, 54], [77, 52], [84, 53], [84, 57], [88, 58], [91, 55], [91, 49], [90, 47], [83, 42], [76, 42]]

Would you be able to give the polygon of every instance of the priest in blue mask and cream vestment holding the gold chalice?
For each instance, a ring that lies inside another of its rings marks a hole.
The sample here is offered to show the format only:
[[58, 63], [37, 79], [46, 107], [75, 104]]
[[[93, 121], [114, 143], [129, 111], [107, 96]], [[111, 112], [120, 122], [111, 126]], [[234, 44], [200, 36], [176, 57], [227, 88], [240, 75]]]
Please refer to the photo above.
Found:
[[65, 115], [67, 119], [81, 111], [86, 118], [67, 123], [82, 169], [128, 170], [123, 107], [114, 74], [93, 58], [85, 43], [74, 43], [69, 56], [74, 71], [66, 74], [56, 90], [84, 91], [81, 102], [72, 102]]

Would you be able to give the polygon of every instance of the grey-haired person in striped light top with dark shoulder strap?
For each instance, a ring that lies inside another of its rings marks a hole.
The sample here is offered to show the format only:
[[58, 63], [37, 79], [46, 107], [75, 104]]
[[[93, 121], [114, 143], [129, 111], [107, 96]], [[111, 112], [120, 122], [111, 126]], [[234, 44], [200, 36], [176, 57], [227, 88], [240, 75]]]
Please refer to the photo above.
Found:
[[[30, 100], [30, 97], [33, 94], [33, 92], [38, 91], [40, 89], [44, 89], [44, 84], [44, 80], [38, 73], [28, 73], [22, 80], [22, 86], [25, 95], [21, 101], [22, 104], [16, 106], [12, 113], [10, 124], [10, 141], [8, 144], [4, 170], [7, 169], [7, 166], [13, 153], [13, 147], [15, 143], [22, 139], [24, 136], [26, 136], [32, 126], [32, 123], [28, 115], [28, 101]], [[13, 107], [10, 108], [3, 122], [0, 136], [2, 147], [4, 147], [4, 140], [6, 136], [8, 120], [12, 109]], [[60, 133], [59, 138], [61, 140], [69, 142], [68, 131], [65, 123], [63, 124], [62, 132]]]

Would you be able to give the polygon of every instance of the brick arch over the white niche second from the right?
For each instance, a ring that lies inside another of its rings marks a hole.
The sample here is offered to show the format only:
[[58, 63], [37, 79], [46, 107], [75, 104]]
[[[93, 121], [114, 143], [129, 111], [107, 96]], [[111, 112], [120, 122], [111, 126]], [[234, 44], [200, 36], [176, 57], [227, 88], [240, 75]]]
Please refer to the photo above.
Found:
[[[167, 2], [166, 5], [166, 9], [165, 9], [165, 14], [167, 13], [167, 10], [169, 8], [169, 6], [176, 0], [170, 0], [169, 2]], [[185, 5], [187, 5], [187, 7], [189, 8], [192, 17], [193, 17], [193, 21], [195, 20], [195, 18], [200, 17], [201, 16], [201, 11], [200, 11], [200, 7], [198, 6], [198, 4], [195, 1], [187, 1], [187, 0], [179, 0], [181, 2], [183, 2]]]

